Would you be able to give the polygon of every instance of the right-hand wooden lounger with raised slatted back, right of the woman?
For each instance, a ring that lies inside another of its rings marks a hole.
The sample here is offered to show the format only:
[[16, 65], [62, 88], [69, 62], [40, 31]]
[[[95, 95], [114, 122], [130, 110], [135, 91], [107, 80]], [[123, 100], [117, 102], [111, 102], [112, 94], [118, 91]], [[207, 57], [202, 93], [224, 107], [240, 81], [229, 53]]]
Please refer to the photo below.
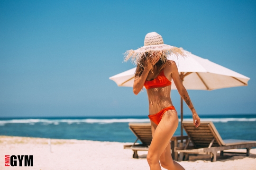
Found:
[[[222, 140], [219, 132], [211, 121], [201, 121], [199, 127], [193, 125], [193, 121], [183, 121], [183, 129], [189, 136], [189, 140], [184, 147], [175, 147], [174, 152], [185, 153], [183, 160], [188, 160], [191, 153], [210, 154], [211, 161], [216, 161], [217, 151], [220, 155], [224, 154], [224, 150], [246, 148], [246, 155], [249, 156], [250, 149], [256, 147], [256, 141], [228, 139]], [[189, 146], [192, 142], [193, 146]], [[231, 152], [225, 152], [231, 153]], [[232, 152], [234, 153], [234, 152]]]

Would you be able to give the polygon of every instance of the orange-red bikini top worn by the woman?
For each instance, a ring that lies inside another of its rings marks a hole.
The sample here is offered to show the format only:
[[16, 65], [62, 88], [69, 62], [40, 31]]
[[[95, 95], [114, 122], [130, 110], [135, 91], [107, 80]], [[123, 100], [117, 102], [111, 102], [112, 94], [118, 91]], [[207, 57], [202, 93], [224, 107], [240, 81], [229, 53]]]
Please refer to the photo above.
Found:
[[150, 89], [150, 88], [155, 88], [155, 87], [165, 87], [168, 85], [171, 85], [172, 82], [170, 82], [165, 74], [164, 74], [164, 69], [162, 69], [162, 71], [159, 73], [159, 75], [157, 77], [155, 77], [155, 79], [151, 80], [151, 81], [145, 81], [144, 86], [146, 89]]

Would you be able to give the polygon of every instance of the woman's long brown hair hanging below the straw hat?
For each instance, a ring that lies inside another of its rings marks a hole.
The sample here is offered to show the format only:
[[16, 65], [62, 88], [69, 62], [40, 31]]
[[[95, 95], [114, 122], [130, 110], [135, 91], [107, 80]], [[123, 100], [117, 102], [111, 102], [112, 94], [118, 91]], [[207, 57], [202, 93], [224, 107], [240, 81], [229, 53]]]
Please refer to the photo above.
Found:
[[145, 69], [146, 63], [149, 61], [150, 57], [156, 57], [156, 55], [160, 55], [160, 59], [155, 63], [154, 67], [157, 67], [157, 71], [161, 70], [162, 68], [165, 67], [167, 58], [166, 55], [163, 53], [155, 53], [155, 55], [152, 56], [151, 52], [145, 52], [144, 55], [142, 55], [142, 57], [139, 59], [138, 64], [137, 64], [137, 68], [135, 71], [134, 76], [141, 76], [143, 70]]

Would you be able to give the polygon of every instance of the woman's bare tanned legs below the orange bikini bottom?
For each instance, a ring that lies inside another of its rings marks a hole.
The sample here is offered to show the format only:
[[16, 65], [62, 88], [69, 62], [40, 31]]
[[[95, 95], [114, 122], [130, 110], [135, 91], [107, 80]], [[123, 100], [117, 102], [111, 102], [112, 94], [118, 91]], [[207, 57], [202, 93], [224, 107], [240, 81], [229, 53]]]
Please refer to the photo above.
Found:
[[171, 156], [170, 140], [178, 127], [177, 112], [166, 111], [157, 128], [155, 123], [151, 122], [151, 124], [153, 139], [146, 157], [150, 170], [161, 170], [159, 160], [165, 169], [184, 170], [180, 164], [173, 161]]

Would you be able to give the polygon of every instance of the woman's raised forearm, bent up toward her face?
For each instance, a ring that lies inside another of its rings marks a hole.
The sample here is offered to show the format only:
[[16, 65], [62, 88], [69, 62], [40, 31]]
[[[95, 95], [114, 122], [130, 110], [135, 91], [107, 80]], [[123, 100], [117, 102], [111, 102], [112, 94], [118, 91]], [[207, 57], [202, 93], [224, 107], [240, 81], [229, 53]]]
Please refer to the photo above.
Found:
[[147, 77], [149, 71], [150, 70], [145, 68], [140, 76], [136, 76], [134, 78], [134, 83], [133, 83], [133, 93], [134, 94], [137, 95], [141, 91], [141, 89], [143, 88], [144, 83], [146, 81], [146, 77]]

